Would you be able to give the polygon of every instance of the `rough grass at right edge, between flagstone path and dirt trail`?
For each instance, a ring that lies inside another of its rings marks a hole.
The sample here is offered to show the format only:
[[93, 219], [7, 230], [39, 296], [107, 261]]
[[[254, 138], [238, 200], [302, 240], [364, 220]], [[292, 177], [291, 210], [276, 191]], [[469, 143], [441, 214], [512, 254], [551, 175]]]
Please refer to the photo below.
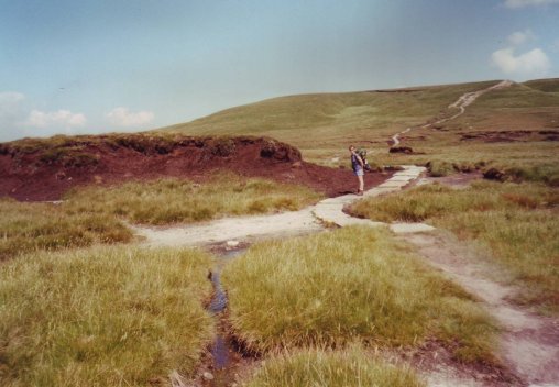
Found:
[[428, 221], [476, 241], [515, 280], [519, 302], [559, 312], [559, 192], [540, 184], [480, 181], [467, 189], [431, 185], [351, 208], [379, 221]]

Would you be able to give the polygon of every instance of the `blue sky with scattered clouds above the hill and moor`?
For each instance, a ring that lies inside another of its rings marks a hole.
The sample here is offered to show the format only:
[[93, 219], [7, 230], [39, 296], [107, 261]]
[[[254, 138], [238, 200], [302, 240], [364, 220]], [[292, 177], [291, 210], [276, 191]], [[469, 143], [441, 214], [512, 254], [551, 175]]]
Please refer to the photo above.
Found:
[[0, 0], [0, 142], [266, 98], [559, 77], [559, 0]]

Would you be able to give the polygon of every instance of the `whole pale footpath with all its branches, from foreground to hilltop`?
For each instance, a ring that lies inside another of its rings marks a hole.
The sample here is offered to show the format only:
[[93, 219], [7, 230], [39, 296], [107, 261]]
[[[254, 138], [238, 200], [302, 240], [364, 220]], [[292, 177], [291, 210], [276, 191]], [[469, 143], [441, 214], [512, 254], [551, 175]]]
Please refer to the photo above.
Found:
[[[457, 114], [419, 128], [453, 120], [463, 114], [465, 108], [483, 93], [511, 85], [511, 81], [505, 80], [490, 88], [465, 93], [449, 107], [459, 109]], [[395, 134], [392, 137], [394, 145], [399, 144], [401, 134], [412, 130], [407, 128]], [[403, 170], [368, 190], [364, 197], [394, 195], [424, 173], [424, 167], [403, 166]], [[525, 307], [512, 305], [508, 300], [522, 291], [519, 288], [494, 280], [495, 273], [500, 270], [489, 264], [489, 259], [481, 259], [471, 248], [428, 224], [386, 224], [346, 214], [343, 208], [359, 199], [361, 197], [355, 195], [346, 195], [322, 200], [300, 211], [226, 218], [187, 226], [130, 226], [138, 235], [144, 237], [143, 243], [149, 246], [237, 245], [260, 239], [281, 239], [320, 232], [328, 225], [387, 226], [402, 241], [414, 245], [426, 262], [474, 295], [500, 323], [503, 334], [500, 349], [496, 351], [503, 363], [517, 376], [517, 380], [511, 382], [511, 385], [559, 387], [559, 320], [541, 317]], [[441, 364], [435, 369], [424, 371], [424, 376], [430, 387], [508, 385], [484, 378], [475, 369], [459, 369], [452, 364]]]

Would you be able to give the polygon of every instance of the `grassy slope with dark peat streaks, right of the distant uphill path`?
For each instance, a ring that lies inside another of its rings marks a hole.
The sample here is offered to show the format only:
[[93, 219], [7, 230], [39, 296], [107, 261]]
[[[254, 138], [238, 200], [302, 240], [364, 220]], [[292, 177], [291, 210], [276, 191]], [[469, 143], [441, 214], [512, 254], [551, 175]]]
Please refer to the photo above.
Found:
[[[536, 81], [539, 88], [545, 81]], [[555, 85], [550, 80], [550, 85]], [[465, 113], [435, 128], [414, 130], [404, 145], [420, 153], [381, 155], [381, 163], [475, 165], [517, 170], [535, 180], [559, 178], [559, 93], [515, 84], [480, 97]], [[550, 86], [550, 88], [551, 88]], [[538, 170], [545, 170], [541, 175]]]

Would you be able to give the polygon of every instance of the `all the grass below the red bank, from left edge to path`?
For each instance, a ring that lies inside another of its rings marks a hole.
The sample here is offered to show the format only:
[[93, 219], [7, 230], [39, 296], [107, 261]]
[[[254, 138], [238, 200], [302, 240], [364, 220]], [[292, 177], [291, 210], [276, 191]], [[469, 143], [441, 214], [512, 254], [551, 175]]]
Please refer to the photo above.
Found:
[[190, 223], [224, 215], [298, 210], [321, 196], [309, 188], [221, 174], [197, 184], [178, 178], [89, 186], [59, 204], [0, 198], [0, 261], [31, 251], [130, 242], [122, 223]]

